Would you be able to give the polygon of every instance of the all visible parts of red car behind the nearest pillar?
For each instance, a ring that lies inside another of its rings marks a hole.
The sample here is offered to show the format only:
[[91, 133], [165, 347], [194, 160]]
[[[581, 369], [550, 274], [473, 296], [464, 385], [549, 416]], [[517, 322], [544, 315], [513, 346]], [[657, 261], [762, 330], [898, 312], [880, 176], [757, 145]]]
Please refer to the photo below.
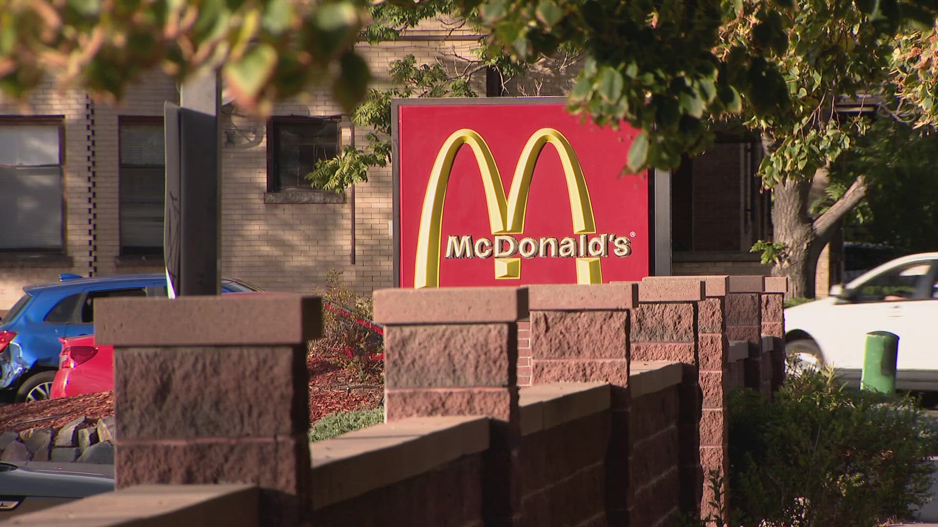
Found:
[[[380, 324], [375, 324], [370, 320], [358, 319], [348, 309], [328, 303], [325, 304], [325, 309], [339, 315], [342, 324], [356, 324], [364, 328], [367, 332], [367, 339], [375, 339], [380, 342], [385, 333]], [[62, 351], [59, 353], [59, 369], [55, 373], [50, 399], [113, 390], [113, 346], [106, 344], [96, 346], [94, 335], [68, 337], [60, 340], [62, 341]], [[384, 354], [378, 354], [372, 358], [380, 360], [384, 358]]]

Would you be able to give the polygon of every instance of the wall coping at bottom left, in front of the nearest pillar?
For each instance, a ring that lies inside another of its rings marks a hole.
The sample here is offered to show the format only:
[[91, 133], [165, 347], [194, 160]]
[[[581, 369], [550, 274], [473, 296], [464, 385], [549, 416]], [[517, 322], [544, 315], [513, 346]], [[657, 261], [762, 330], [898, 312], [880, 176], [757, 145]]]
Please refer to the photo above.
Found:
[[[253, 485], [138, 485], [16, 517], [17, 525], [110, 527], [153, 525], [172, 517], [179, 525], [259, 525], [261, 489]], [[247, 520], [246, 520], [247, 519]], [[250, 519], [253, 519], [251, 521]]]

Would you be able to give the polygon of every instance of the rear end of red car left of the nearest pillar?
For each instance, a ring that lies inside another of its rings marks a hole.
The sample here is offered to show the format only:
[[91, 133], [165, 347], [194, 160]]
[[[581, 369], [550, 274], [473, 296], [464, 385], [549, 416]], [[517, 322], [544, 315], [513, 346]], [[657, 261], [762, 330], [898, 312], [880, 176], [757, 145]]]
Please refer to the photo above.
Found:
[[50, 399], [113, 390], [114, 347], [95, 345], [94, 335], [62, 340]]

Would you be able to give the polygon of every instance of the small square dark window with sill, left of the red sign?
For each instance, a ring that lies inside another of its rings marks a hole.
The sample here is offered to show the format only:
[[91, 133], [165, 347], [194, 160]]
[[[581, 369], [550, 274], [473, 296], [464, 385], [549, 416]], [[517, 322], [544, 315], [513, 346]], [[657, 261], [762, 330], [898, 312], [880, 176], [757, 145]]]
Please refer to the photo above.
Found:
[[339, 121], [273, 117], [267, 125], [267, 190], [309, 190], [306, 175], [320, 159], [339, 155]]

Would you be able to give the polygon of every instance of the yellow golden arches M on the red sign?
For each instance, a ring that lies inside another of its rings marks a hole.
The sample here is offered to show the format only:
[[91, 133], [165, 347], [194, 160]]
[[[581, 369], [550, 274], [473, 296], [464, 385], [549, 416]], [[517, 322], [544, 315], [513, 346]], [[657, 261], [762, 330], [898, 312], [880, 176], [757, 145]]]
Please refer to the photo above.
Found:
[[[485, 201], [489, 210], [492, 234], [510, 234], [524, 231], [524, 213], [527, 210], [528, 194], [531, 189], [531, 176], [534, 173], [537, 158], [548, 143], [556, 148], [561, 165], [564, 167], [574, 233], [596, 233], [593, 205], [590, 203], [580, 160], [564, 134], [554, 128], [540, 128], [534, 132], [524, 144], [521, 157], [518, 158], [506, 200], [502, 177], [495, 165], [489, 145], [477, 131], [462, 128], [446, 138], [446, 142], [443, 143], [433, 162], [417, 233], [415, 288], [439, 287], [440, 285], [443, 205], [446, 201], [446, 187], [453, 168], [453, 159], [456, 158], [456, 153], [459, 152], [461, 146], [468, 144], [476, 156], [482, 186], [485, 188]], [[495, 278], [520, 278], [520, 265], [521, 262], [517, 258], [496, 258]], [[577, 283], [602, 282], [599, 259], [596, 257], [577, 258], [576, 270]]]

